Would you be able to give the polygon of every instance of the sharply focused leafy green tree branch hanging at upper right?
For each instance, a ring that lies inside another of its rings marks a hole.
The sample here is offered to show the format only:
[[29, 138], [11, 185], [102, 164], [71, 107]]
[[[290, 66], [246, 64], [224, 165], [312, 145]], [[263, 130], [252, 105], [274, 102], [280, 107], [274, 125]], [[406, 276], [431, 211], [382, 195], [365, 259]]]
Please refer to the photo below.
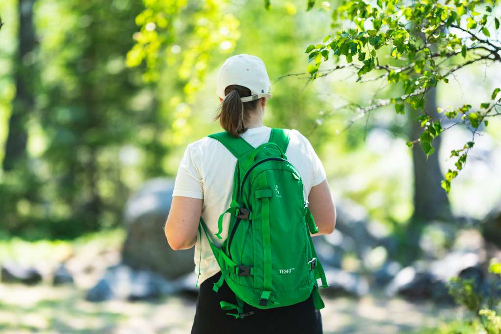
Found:
[[[327, 35], [322, 43], [306, 48], [310, 63], [306, 71], [314, 80], [343, 68], [353, 68], [357, 82], [381, 81], [388, 86], [403, 86], [401, 95], [373, 100], [367, 107], [348, 104], [345, 108], [354, 109], [359, 114], [357, 118], [390, 104], [397, 114], [404, 114], [406, 105], [419, 110], [422, 115], [418, 121], [423, 131], [407, 145], [420, 144], [427, 156], [435, 151], [433, 139], [443, 131], [456, 124], [466, 126], [471, 131], [471, 141], [451, 151], [451, 157], [457, 157], [456, 169], [449, 169], [441, 182], [448, 193], [451, 180], [462, 169], [473, 147], [475, 135], [487, 126], [490, 117], [501, 115], [501, 97], [497, 96], [500, 88], [495, 88], [490, 100], [481, 103], [479, 108], [464, 104], [439, 119], [432, 119], [430, 111], [424, 110], [425, 93], [439, 82], [448, 83], [449, 77], [465, 66], [501, 62], [501, 41], [494, 34], [499, 30], [496, 12], [494, 0], [445, 3], [344, 0], [332, 11], [331, 26], [336, 35]], [[320, 65], [327, 62], [330, 55], [337, 65], [321, 70]], [[341, 56], [346, 62], [341, 62]], [[449, 120], [454, 123], [449, 124]], [[442, 126], [444, 123], [448, 126]]]

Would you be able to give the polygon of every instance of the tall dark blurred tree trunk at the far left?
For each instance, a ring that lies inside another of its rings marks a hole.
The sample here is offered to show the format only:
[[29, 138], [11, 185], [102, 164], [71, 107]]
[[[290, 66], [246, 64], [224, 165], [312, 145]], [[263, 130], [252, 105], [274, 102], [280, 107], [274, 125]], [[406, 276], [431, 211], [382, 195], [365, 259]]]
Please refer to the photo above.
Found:
[[14, 98], [9, 134], [5, 146], [3, 168], [9, 171], [26, 158], [28, 131], [26, 122], [35, 105], [34, 49], [35, 28], [33, 25], [33, 5], [35, 0], [19, 0], [19, 46], [16, 64], [16, 96]]

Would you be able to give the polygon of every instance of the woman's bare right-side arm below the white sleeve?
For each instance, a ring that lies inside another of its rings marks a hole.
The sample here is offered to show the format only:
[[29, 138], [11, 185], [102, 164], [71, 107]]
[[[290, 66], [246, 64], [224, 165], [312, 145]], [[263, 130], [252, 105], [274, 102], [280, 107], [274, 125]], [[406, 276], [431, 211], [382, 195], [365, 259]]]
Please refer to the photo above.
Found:
[[336, 207], [331, 197], [327, 179], [312, 187], [308, 195], [308, 202], [313, 219], [315, 219], [318, 227], [318, 233], [312, 235], [332, 233], [336, 226]]

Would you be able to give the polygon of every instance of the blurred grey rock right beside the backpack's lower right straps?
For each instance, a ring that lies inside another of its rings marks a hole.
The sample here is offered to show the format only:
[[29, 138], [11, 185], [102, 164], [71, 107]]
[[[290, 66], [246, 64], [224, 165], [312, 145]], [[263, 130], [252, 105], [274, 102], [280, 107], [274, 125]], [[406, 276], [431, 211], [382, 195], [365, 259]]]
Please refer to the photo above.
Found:
[[351, 295], [360, 297], [369, 292], [369, 283], [359, 274], [338, 268], [324, 267], [327, 284], [327, 294], [334, 296]]

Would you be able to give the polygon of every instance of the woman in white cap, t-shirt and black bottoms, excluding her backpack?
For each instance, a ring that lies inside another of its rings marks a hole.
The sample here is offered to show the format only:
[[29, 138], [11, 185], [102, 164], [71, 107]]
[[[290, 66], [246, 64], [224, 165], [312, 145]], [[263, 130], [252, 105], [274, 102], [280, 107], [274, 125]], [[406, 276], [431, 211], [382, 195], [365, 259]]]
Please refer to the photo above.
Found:
[[[217, 94], [219, 119], [224, 130], [242, 137], [258, 147], [267, 142], [271, 128], [263, 125], [267, 99], [271, 98], [270, 79], [261, 59], [246, 54], [228, 58], [219, 71]], [[334, 230], [336, 211], [324, 167], [315, 150], [299, 131], [290, 131], [286, 150], [288, 160], [296, 167], [304, 184], [304, 197], [317, 223], [319, 234]], [[221, 276], [206, 238], [198, 238], [200, 216], [209, 230], [217, 231], [217, 218], [229, 206], [236, 158], [217, 140], [204, 137], [188, 145], [177, 172], [172, 205], [165, 226], [165, 235], [172, 249], [195, 245], [195, 271], [200, 292], [191, 332], [199, 333], [322, 333], [320, 311], [312, 296], [300, 303], [271, 309], [245, 305], [252, 316], [235, 319], [225, 315], [219, 301], [233, 301], [234, 294], [226, 285], [218, 293], [213, 283]], [[228, 221], [224, 222], [220, 245], [226, 238]], [[286, 237], [286, 236], [285, 236]], [[200, 249], [201, 247], [201, 249]]]

